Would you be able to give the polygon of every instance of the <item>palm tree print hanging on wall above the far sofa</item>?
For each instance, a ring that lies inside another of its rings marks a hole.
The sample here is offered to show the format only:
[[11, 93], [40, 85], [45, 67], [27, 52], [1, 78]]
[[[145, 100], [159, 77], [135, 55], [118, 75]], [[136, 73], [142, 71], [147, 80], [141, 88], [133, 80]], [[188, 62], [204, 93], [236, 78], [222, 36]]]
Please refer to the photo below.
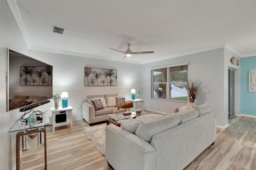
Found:
[[117, 70], [84, 67], [85, 86], [116, 86]]

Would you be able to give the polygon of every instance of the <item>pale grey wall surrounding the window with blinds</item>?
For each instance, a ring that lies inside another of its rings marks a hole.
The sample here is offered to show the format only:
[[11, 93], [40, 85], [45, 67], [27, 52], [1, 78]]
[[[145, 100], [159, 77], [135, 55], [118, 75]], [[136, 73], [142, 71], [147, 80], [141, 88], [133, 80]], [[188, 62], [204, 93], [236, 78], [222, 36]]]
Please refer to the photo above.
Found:
[[[218, 116], [217, 124], [220, 126], [227, 125], [227, 120], [225, 119], [227, 114], [224, 115], [226, 109], [224, 105], [226, 105], [227, 101], [224, 101], [223, 59], [224, 48], [221, 48], [141, 65], [143, 82], [141, 83], [141, 94], [142, 98], [145, 99], [145, 107], [170, 113], [177, 107], [186, 105], [186, 103], [150, 98], [150, 68], [188, 62], [188, 78], [198, 80], [202, 85], [200, 96], [196, 98], [197, 105], [205, 102], [210, 103], [212, 111]], [[203, 88], [209, 89], [209, 93], [203, 93]]]

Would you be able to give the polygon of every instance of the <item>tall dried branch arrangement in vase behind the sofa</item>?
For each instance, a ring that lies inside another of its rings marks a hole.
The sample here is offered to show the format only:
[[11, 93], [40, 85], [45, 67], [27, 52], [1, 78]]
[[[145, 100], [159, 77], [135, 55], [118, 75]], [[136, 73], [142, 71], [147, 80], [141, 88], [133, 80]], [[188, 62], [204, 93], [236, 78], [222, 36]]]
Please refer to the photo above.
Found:
[[188, 99], [189, 102], [194, 103], [196, 97], [199, 96], [199, 88], [201, 83], [196, 81], [188, 80], [187, 81], [187, 92], [188, 92]]

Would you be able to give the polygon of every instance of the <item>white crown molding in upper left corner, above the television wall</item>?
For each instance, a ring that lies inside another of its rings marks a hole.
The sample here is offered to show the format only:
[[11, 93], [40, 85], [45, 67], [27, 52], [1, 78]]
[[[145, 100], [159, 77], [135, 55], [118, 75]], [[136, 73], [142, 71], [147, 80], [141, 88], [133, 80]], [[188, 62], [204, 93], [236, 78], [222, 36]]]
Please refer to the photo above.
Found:
[[22, 20], [22, 17], [20, 15], [20, 10], [18, 8], [18, 5], [17, 5], [17, 2], [16, 0], [6, 0], [11, 12], [12, 12], [12, 15], [14, 17], [14, 20], [16, 21], [16, 24], [20, 30], [20, 33], [22, 35], [22, 38], [26, 44], [26, 46], [29, 48], [30, 47], [30, 43], [29, 43], [29, 40], [28, 40], [28, 36], [27, 36], [27, 32], [26, 32], [26, 29], [25, 29], [25, 26], [24, 26], [24, 22]]

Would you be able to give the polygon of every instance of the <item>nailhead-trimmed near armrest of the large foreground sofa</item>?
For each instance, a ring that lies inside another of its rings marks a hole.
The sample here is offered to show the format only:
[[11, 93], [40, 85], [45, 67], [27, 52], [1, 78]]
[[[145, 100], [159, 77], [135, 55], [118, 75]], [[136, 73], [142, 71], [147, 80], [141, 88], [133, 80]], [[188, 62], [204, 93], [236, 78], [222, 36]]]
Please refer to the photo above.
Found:
[[156, 169], [156, 149], [116, 125], [106, 127], [105, 158], [114, 169]]

